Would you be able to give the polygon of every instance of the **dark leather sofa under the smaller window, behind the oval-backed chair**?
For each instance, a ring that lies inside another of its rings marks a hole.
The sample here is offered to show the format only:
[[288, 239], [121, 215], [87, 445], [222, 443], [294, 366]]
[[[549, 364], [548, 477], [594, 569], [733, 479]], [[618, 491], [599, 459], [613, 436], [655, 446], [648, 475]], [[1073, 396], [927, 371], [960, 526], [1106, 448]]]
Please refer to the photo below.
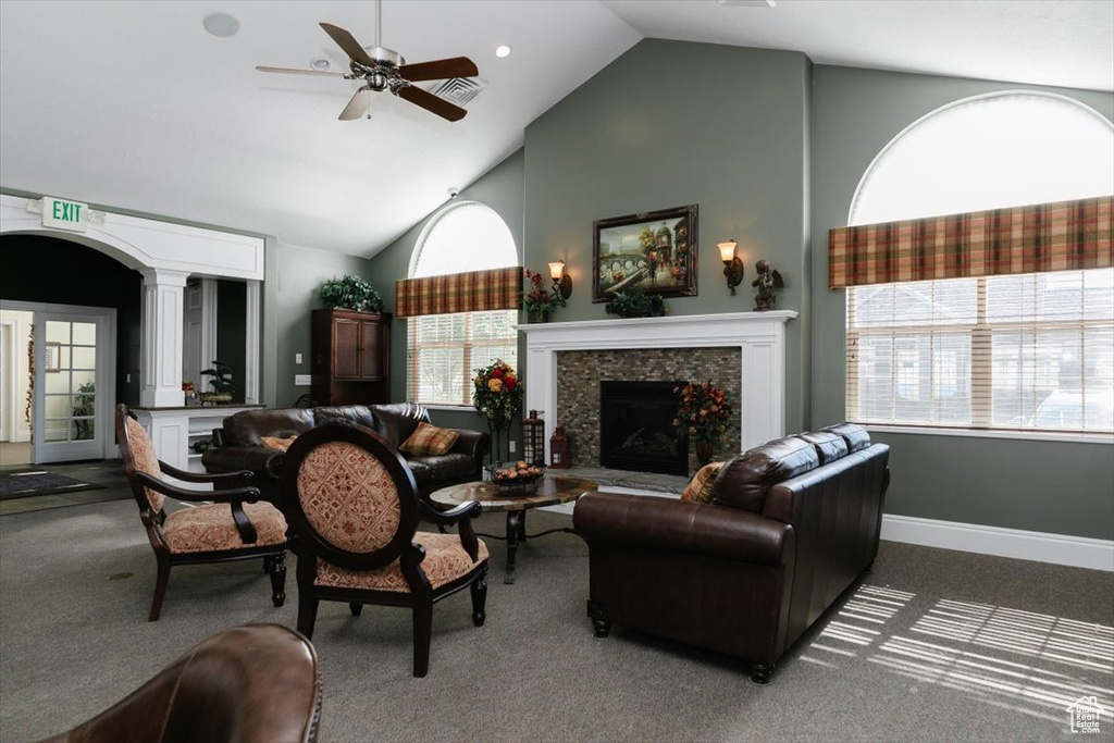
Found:
[[[287, 439], [338, 418], [370, 428], [398, 449], [418, 423], [429, 422], [429, 411], [413, 402], [244, 410], [225, 418], [224, 426], [213, 431], [214, 446], [202, 456], [202, 463], [208, 472], [251, 470], [251, 485], [260, 489], [264, 499], [277, 504], [278, 470], [285, 452], [263, 446], [261, 439]], [[450, 485], [479, 480], [482, 475], [483, 457], [490, 446], [488, 434], [452, 430], [458, 438], [448, 453], [419, 457], [399, 452], [413, 473], [422, 498]]]

